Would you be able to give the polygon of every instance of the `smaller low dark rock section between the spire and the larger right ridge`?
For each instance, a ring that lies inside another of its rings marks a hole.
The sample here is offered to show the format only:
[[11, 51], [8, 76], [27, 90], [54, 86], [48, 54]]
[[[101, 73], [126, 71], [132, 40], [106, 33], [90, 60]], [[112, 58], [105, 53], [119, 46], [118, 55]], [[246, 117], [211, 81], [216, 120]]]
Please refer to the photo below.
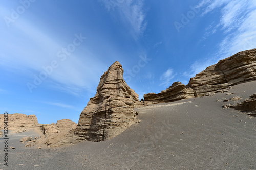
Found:
[[188, 98], [194, 98], [194, 91], [193, 89], [186, 87], [181, 82], [174, 82], [172, 86], [158, 94], [144, 94], [144, 99], [146, 102], [153, 101], [155, 103], [173, 102]]

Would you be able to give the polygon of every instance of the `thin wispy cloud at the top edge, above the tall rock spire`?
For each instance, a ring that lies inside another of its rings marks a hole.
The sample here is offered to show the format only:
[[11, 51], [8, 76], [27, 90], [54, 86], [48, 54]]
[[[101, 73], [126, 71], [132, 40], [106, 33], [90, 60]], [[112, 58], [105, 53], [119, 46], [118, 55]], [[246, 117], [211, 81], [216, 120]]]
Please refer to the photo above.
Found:
[[146, 29], [146, 12], [144, 10], [144, 1], [124, 1], [124, 0], [102, 0], [108, 11], [112, 10], [115, 15], [118, 14], [124, 25], [130, 30], [135, 39], [138, 39]]

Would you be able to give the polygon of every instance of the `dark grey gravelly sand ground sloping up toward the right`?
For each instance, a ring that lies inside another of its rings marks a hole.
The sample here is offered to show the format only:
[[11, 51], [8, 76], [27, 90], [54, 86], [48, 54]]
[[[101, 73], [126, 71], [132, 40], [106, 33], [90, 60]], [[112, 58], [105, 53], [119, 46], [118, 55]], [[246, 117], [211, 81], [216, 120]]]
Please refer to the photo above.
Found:
[[141, 122], [104, 142], [24, 148], [18, 140], [36, 132], [12, 134], [8, 168], [0, 140], [0, 169], [256, 169], [256, 117], [222, 108], [236, 103], [223, 99], [248, 98], [255, 87], [248, 82], [214, 96], [138, 108]]

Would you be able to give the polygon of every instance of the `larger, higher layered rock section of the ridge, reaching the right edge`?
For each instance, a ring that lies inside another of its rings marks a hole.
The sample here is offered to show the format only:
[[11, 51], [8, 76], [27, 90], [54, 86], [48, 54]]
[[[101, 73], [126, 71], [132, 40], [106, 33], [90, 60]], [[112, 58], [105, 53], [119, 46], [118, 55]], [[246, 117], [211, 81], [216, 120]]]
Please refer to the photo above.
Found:
[[252, 80], [256, 80], [256, 49], [220, 60], [191, 78], [188, 85], [198, 97]]

